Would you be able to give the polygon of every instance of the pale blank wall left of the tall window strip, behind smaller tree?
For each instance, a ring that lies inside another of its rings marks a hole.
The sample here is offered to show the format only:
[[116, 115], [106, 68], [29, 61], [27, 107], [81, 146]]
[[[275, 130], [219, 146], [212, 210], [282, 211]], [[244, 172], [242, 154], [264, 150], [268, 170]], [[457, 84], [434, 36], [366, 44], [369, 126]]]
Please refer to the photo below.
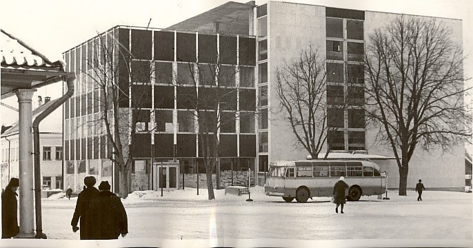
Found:
[[269, 159], [305, 159], [308, 152], [297, 141], [281, 111], [276, 92], [276, 68], [297, 59], [302, 50], [312, 45], [325, 57], [325, 8], [298, 3], [268, 3], [268, 70], [270, 74]]

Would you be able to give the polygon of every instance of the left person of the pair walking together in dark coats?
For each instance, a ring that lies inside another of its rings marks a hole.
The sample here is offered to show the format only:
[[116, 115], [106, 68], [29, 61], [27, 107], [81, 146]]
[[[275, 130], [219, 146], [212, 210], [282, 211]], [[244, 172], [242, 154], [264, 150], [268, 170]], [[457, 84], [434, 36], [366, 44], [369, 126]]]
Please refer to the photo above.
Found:
[[90, 238], [90, 221], [88, 219], [89, 203], [90, 200], [99, 196], [99, 189], [95, 188], [95, 178], [93, 176], [85, 176], [83, 183], [86, 188], [83, 189], [79, 196], [77, 196], [76, 209], [70, 225], [72, 225], [72, 231], [76, 232], [79, 230], [77, 222], [81, 219], [81, 240], [92, 239]]

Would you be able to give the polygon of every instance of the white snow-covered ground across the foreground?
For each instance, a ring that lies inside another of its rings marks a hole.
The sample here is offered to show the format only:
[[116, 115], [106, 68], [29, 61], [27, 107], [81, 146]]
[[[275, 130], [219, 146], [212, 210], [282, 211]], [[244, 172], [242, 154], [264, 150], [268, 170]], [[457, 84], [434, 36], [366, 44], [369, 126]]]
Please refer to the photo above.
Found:
[[[243, 247], [473, 247], [472, 194], [463, 192], [423, 193], [390, 200], [363, 196], [348, 202], [345, 214], [336, 214], [330, 198], [316, 197], [308, 203], [285, 203], [265, 196], [263, 187], [248, 195], [225, 195], [215, 190], [185, 188], [174, 192], [133, 192], [122, 199], [128, 213], [129, 234], [112, 241], [79, 240], [70, 220], [77, 198], [63, 193], [43, 200], [43, 230], [48, 240], [2, 240], [0, 247], [130, 246], [243, 246]], [[383, 195], [385, 196], [385, 195]], [[56, 240], [54, 240], [56, 239]], [[65, 241], [67, 240], [67, 241]], [[5, 242], [6, 241], [6, 242]]]

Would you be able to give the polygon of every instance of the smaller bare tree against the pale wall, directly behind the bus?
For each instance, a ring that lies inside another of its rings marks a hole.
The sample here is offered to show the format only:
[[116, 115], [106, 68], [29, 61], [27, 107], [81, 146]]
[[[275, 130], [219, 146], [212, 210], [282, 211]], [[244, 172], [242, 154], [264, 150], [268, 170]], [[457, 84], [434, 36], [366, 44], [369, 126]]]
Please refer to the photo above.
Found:
[[[298, 144], [316, 159], [328, 141], [328, 101], [325, 80], [325, 60], [319, 50], [309, 45], [294, 61], [285, 62], [276, 70], [276, 90], [286, 121], [292, 128]], [[332, 96], [330, 96], [332, 97]], [[341, 95], [343, 105], [343, 94]], [[336, 102], [335, 99], [331, 99]], [[343, 115], [341, 116], [343, 118]], [[330, 127], [334, 131], [336, 127]], [[328, 147], [325, 156], [330, 152]]]

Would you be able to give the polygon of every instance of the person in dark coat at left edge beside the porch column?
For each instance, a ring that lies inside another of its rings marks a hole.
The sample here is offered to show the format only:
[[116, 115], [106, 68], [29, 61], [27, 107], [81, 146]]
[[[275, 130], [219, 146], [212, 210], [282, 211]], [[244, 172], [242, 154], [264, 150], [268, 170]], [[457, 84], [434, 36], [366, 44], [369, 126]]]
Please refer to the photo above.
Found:
[[19, 182], [18, 178], [11, 178], [10, 183], [1, 194], [1, 238], [12, 238], [20, 232], [17, 208]]

